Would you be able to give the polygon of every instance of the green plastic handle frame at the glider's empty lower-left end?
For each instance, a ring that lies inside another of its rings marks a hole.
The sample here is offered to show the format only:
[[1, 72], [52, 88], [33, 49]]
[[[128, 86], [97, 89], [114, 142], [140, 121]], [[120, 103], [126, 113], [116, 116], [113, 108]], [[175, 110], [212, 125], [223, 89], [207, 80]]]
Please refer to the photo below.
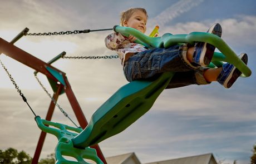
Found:
[[[75, 148], [73, 146], [73, 142], [71, 141], [71, 139], [77, 136], [78, 133], [82, 132], [82, 128], [75, 128], [63, 125], [61, 123], [46, 121], [41, 119], [40, 116], [36, 116], [35, 120], [37, 122], [37, 126], [42, 131], [46, 133], [51, 133], [52, 135], [55, 135], [58, 138], [58, 144], [55, 148], [56, 164], [90, 164], [86, 162], [85, 159], [95, 161], [97, 164], [104, 164], [104, 162], [102, 162], [100, 158], [97, 156], [97, 152], [95, 149], [90, 147], [85, 147], [81, 149]], [[67, 158], [76, 158], [77, 161], [68, 160], [65, 158], [65, 156]]]

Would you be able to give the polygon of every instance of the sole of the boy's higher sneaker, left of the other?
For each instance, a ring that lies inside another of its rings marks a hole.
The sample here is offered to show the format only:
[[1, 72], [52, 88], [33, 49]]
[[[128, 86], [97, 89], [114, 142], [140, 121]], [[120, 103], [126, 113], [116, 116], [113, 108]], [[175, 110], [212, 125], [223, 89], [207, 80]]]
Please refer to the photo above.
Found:
[[[222, 29], [219, 23], [216, 23], [215, 26], [211, 26], [210, 29], [207, 31], [208, 33], [215, 34], [218, 37], [221, 37]], [[211, 59], [213, 58], [213, 54], [215, 51], [215, 47], [209, 43], [204, 43], [204, 48], [203, 48], [203, 54], [204, 57], [200, 58], [200, 64], [203, 67], [206, 67], [210, 64]]]

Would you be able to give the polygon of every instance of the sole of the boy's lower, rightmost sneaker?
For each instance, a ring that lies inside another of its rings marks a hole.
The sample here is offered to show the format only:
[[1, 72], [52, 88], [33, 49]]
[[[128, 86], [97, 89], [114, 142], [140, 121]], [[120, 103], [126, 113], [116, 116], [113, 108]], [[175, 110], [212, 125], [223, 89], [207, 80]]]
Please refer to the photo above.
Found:
[[[248, 56], [246, 53], [241, 53], [239, 58], [245, 63], [247, 64], [248, 62]], [[236, 68], [235, 66], [232, 68], [233, 70], [229, 73], [232, 74], [232, 76], [228, 76], [228, 78], [225, 80], [226, 82], [223, 83], [223, 86], [225, 88], [230, 88], [233, 83], [238, 79], [238, 77], [242, 74], [241, 71], [239, 71], [238, 68]]]

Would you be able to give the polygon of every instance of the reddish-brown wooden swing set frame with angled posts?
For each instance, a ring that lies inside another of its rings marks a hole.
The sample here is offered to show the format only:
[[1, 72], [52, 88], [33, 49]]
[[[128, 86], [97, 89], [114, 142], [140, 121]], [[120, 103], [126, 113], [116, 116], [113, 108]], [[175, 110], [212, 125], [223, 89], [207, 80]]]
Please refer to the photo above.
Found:
[[[68, 82], [68, 79], [66, 77], [66, 73], [51, 66], [51, 62], [46, 63], [46, 62], [42, 61], [41, 59], [38, 59], [37, 57], [33, 56], [32, 54], [29, 54], [26, 51], [23, 51], [21, 48], [18, 48], [13, 45], [16, 41], [18, 41], [19, 38], [24, 36], [28, 32], [28, 30], [29, 30], [28, 28], [23, 29], [23, 31], [21, 33], [19, 33], [17, 35], [17, 37], [15, 37], [11, 42], [7, 42], [0, 37], [0, 54], [3, 53], [6, 56], [11, 57], [16, 61], [21, 62], [22, 64], [25, 64], [26, 66], [28, 66], [32, 69], [35, 69], [35, 71], [37, 71], [37, 72], [41, 72], [42, 74], [45, 74], [45, 76], [48, 79], [55, 81], [57, 90], [53, 95], [54, 100], [57, 101], [58, 97], [61, 95], [61, 92], [64, 90], [66, 93], [66, 96], [68, 98], [68, 101], [70, 102], [70, 105], [73, 109], [73, 112], [76, 115], [79, 125], [82, 128], [85, 128], [88, 125], [88, 122], [85, 118], [85, 115], [83, 115], [82, 109], [75, 97], [75, 94], [72, 91], [71, 85]], [[58, 83], [58, 79], [55, 76], [53, 76], [47, 70], [47, 68], [50, 68], [50, 69], [55, 70], [56, 72], [60, 73], [62, 78], [64, 79], [66, 85], [64, 86], [62, 83]], [[55, 109], [55, 103], [51, 100], [45, 120], [51, 121], [54, 109]], [[40, 154], [42, 151], [43, 143], [45, 142], [45, 138], [46, 138], [46, 132], [42, 131], [40, 138], [38, 140], [38, 143], [37, 143], [37, 147], [36, 147], [36, 151], [35, 151], [35, 154], [34, 154], [34, 157], [32, 160], [32, 164], [38, 163], [38, 160], [39, 160], [39, 157], [40, 157]], [[97, 156], [99, 156], [99, 158], [104, 163], [107, 163], [104, 155], [102, 154], [102, 152], [100, 150], [99, 145], [97, 145], [97, 144], [93, 145], [93, 146], [91, 146], [91, 148], [95, 148], [95, 150], [97, 152]]]

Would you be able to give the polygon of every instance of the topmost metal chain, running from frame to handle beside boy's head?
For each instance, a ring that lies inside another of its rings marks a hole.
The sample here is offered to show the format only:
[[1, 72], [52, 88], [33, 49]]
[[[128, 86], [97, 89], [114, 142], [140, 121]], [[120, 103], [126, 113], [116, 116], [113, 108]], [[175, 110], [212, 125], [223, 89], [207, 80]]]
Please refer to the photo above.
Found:
[[78, 33], [89, 33], [95, 31], [108, 31], [113, 30], [113, 28], [106, 29], [84, 29], [84, 30], [75, 30], [75, 31], [61, 31], [61, 32], [43, 32], [43, 33], [27, 33], [27, 36], [51, 36], [51, 35], [63, 35], [63, 34], [78, 34]]

